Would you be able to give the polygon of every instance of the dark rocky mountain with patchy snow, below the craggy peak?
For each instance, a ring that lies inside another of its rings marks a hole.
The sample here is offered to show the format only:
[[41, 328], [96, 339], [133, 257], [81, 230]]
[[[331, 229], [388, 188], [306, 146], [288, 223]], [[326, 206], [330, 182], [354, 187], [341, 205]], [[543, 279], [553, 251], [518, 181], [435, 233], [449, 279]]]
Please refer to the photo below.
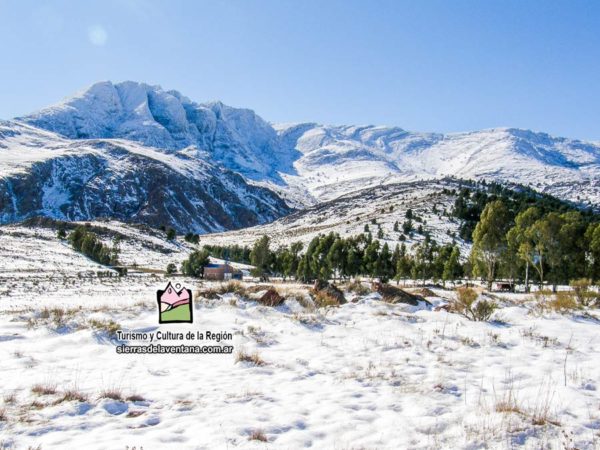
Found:
[[39, 215], [111, 217], [203, 233], [289, 212], [272, 191], [191, 149], [165, 153], [128, 140], [73, 140], [0, 122], [0, 223]]

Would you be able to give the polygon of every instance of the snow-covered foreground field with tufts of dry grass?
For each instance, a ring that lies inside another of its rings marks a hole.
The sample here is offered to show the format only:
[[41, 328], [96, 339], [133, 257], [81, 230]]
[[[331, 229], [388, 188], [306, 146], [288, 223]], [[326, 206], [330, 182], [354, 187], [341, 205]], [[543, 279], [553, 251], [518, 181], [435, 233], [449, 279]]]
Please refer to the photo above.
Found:
[[[293, 284], [276, 285], [286, 301], [271, 308], [175, 277], [196, 294], [195, 320], [159, 325], [162, 274], [98, 278], [100, 266], [24, 230], [0, 234], [0, 448], [600, 448], [597, 310], [540, 313], [501, 294], [482, 323], [348, 292], [315, 309]], [[188, 251], [136, 239], [123, 252], [139, 244], [136, 259], [157, 268]], [[231, 333], [205, 343], [234, 351], [117, 354], [143, 342], [115, 330]]]

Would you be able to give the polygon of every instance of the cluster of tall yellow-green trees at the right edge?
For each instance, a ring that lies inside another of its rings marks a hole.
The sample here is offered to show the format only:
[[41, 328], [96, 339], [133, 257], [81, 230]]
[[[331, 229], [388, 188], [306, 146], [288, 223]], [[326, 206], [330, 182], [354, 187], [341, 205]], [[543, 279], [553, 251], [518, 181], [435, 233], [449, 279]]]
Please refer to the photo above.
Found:
[[[591, 216], [593, 218], [593, 216]], [[488, 203], [473, 232], [473, 275], [535, 279], [557, 284], [600, 278], [600, 225], [579, 211], [542, 212], [530, 206], [516, 217], [502, 200]]]

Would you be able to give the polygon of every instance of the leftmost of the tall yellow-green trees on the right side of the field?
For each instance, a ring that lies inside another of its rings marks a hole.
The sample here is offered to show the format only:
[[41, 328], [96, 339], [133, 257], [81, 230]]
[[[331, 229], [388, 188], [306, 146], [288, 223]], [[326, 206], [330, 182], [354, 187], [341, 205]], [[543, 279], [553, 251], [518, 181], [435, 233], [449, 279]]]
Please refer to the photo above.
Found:
[[485, 268], [488, 289], [496, 279], [496, 270], [502, 254], [506, 251], [506, 233], [510, 214], [501, 200], [488, 203], [473, 232], [473, 258]]

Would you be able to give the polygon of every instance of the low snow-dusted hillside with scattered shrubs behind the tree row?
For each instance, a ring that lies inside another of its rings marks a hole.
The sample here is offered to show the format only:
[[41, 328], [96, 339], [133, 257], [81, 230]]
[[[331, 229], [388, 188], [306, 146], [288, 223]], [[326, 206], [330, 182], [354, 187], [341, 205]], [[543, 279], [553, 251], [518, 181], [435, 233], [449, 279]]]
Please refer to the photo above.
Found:
[[[251, 246], [262, 235], [267, 235], [273, 248], [296, 241], [303, 242], [306, 247], [319, 234], [334, 232], [342, 237], [357, 236], [365, 233], [366, 226], [374, 238], [378, 238], [381, 229], [383, 237], [378, 239], [394, 248], [402, 242], [400, 237], [404, 233], [401, 226], [406, 220], [407, 211], [411, 209], [421, 220], [414, 222], [415, 228], [422, 224], [440, 244], [452, 241], [460, 243], [466, 255], [469, 244], [456, 238], [460, 223], [449, 217], [456, 195], [443, 192], [445, 188], [457, 189], [459, 186], [457, 181], [434, 180], [372, 187], [319, 203], [269, 224], [200, 236], [200, 245]], [[398, 231], [394, 231], [396, 222], [399, 225]], [[406, 241], [403, 242], [409, 247], [424, 239], [417, 232], [412, 236], [404, 236]]]

